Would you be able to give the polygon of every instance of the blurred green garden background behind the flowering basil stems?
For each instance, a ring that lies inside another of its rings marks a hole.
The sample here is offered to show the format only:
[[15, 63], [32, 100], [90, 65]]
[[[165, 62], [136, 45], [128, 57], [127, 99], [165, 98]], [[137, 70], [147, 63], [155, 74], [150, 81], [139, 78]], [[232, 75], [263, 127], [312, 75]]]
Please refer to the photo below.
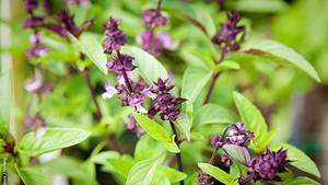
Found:
[[[164, 0], [163, 8], [165, 14], [171, 18], [171, 23], [163, 30], [172, 35], [178, 47], [165, 51], [160, 61], [173, 71], [179, 86], [186, 66], [201, 66], [199, 55], [206, 56], [210, 53], [208, 47], [203, 47], [207, 46], [208, 38], [184, 19], [184, 14], [195, 13], [212, 33], [224, 22], [225, 14], [221, 11], [220, 0], [181, 0], [178, 3], [174, 1], [179, 0]], [[28, 114], [38, 113], [48, 125], [74, 125], [93, 130], [97, 137], [89, 144], [65, 151], [75, 159], [85, 159], [94, 143], [99, 138], [105, 138], [108, 132], [115, 132], [116, 139], [125, 143], [124, 150], [131, 152], [136, 137], [125, 129], [124, 116], [117, 115], [124, 114], [124, 108], [113, 109], [118, 106], [118, 101], [108, 103], [99, 99], [102, 108], [107, 113], [106, 122], [112, 125], [107, 129], [103, 128], [106, 124], [94, 126], [91, 114], [94, 107], [90, 102], [83, 78], [70, 71], [69, 63], [73, 62], [70, 61], [73, 54], [69, 48], [61, 47], [60, 43], [65, 41], [51, 33], [42, 32], [47, 37], [46, 44], [50, 46], [52, 56], [37, 61], [27, 60], [25, 51], [31, 46], [28, 35], [32, 31], [22, 27], [22, 22], [26, 18], [22, 1], [0, 2], [1, 71], [7, 69], [13, 71], [12, 132], [20, 138], [32, 128], [31, 125], [24, 125]], [[86, 4], [75, 5], [68, 5], [61, 0], [42, 2], [50, 4], [47, 12], [49, 16], [67, 8], [75, 14], [74, 19], [79, 24], [84, 19], [94, 19], [90, 32], [99, 35], [103, 34], [103, 24], [109, 16], [121, 19], [121, 28], [127, 32], [131, 45], [137, 45], [136, 35], [144, 31], [140, 11], [155, 4], [155, 1], [151, 0], [91, 0]], [[315, 82], [292, 67], [247, 59], [241, 61], [242, 70], [225, 73], [220, 78], [211, 102], [233, 107], [232, 92], [237, 90], [246, 94], [261, 109], [269, 127], [278, 129], [274, 140], [289, 141], [305, 151], [319, 166], [323, 180], [318, 181], [328, 184], [328, 0], [225, 0], [224, 2], [226, 9], [242, 13], [242, 23], [247, 27], [246, 39], [271, 38], [294, 48], [318, 71], [321, 83]], [[52, 92], [47, 95], [34, 96], [24, 90], [24, 82], [33, 74], [35, 63], [42, 66], [45, 79], [54, 85]], [[96, 86], [97, 94], [101, 94], [104, 81], [113, 80], [113, 77], [104, 78], [95, 67], [91, 67], [91, 73], [92, 83]], [[0, 89], [2, 88], [0, 84]], [[201, 100], [198, 102], [200, 104]], [[108, 174], [103, 173], [97, 178], [102, 182], [102, 178], [107, 176]]]

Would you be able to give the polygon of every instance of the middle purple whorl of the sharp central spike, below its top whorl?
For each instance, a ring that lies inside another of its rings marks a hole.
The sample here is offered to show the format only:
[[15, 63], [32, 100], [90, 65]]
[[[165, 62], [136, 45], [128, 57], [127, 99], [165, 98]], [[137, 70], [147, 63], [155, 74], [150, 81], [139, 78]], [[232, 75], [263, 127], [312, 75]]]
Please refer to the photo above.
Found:
[[117, 71], [117, 72], [122, 72], [122, 71], [132, 71], [136, 69], [136, 66], [132, 65], [133, 57], [127, 55], [127, 54], [121, 54], [117, 57], [113, 57], [108, 62], [107, 62], [107, 68], [110, 70]]

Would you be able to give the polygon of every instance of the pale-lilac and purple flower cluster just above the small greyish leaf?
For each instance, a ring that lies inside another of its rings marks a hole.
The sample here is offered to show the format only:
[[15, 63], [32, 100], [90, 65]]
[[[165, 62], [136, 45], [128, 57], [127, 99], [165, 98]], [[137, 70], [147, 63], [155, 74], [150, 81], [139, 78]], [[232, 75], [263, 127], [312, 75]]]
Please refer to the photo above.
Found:
[[[254, 139], [254, 134], [251, 131], [246, 131], [244, 123], [233, 124], [227, 128], [225, 136], [214, 135], [210, 138], [211, 144], [214, 148], [221, 148], [224, 144], [236, 144], [241, 147], [246, 147], [247, 141]], [[232, 161], [226, 153], [221, 155], [221, 162], [225, 166], [230, 166]]]

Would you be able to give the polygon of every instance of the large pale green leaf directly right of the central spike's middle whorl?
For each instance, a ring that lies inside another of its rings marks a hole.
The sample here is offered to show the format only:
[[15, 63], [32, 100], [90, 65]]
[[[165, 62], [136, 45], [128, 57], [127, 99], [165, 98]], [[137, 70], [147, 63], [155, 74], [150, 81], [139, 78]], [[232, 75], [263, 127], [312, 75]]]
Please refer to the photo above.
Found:
[[124, 46], [122, 51], [134, 57], [133, 63], [138, 67], [137, 70], [149, 84], [153, 84], [159, 78], [167, 79], [166, 69], [149, 53], [133, 46]]

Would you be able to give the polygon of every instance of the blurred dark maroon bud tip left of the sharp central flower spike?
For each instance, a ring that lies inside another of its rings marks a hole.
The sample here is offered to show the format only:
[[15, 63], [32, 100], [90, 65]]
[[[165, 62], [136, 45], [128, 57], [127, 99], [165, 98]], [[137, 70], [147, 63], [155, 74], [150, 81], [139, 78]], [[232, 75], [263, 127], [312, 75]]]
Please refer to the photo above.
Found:
[[59, 23], [61, 27], [71, 34], [75, 35], [79, 32], [79, 27], [75, 26], [73, 15], [68, 10], [62, 10], [58, 14]]

